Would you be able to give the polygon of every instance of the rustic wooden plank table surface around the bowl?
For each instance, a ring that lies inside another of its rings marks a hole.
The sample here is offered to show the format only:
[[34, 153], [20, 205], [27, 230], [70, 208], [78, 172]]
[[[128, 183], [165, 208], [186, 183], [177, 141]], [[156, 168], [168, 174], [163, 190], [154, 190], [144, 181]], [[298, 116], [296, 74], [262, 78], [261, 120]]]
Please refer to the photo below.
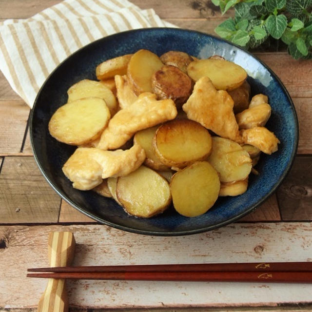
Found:
[[[25, 19], [59, 0], [0, 0], [0, 20]], [[182, 28], [214, 34], [221, 16], [210, 1], [133, 0]], [[288, 89], [299, 118], [292, 170], [254, 213], [191, 236], [153, 237], [99, 225], [51, 189], [32, 156], [29, 107], [0, 73], [0, 311], [35, 311], [44, 280], [28, 267], [47, 266], [50, 231], [72, 231], [76, 265], [312, 261], [312, 61], [286, 52], [255, 52]], [[1, 61], [1, 60], [0, 60]], [[311, 285], [76, 281], [71, 311], [312, 311]]]

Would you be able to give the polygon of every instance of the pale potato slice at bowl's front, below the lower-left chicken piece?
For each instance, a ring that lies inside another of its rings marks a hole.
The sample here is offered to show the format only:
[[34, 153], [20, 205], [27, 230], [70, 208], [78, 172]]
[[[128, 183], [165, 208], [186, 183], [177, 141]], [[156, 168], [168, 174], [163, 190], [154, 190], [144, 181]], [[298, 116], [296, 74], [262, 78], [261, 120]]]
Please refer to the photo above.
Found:
[[171, 203], [167, 180], [145, 166], [119, 177], [116, 194], [128, 214], [142, 218], [162, 213]]

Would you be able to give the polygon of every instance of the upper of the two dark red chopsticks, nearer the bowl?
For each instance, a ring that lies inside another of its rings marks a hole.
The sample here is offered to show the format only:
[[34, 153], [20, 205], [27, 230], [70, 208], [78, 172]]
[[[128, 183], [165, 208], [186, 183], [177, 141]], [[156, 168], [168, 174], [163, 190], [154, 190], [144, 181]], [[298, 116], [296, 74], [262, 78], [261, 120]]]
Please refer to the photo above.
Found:
[[157, 264], [33, 268], [28, 272], [312, 272], [312, 262]]

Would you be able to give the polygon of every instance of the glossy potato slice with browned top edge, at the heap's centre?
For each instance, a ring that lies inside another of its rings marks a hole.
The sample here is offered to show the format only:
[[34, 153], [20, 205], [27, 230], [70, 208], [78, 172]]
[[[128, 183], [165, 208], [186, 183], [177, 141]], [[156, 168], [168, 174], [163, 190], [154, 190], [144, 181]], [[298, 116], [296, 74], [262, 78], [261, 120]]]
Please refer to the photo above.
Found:
[[161, 125], [153, 139], [153, 149], [167, 166], [183, 168], [205, 159], [212, 139], [207, 129], [189, 119], [175, 119]]

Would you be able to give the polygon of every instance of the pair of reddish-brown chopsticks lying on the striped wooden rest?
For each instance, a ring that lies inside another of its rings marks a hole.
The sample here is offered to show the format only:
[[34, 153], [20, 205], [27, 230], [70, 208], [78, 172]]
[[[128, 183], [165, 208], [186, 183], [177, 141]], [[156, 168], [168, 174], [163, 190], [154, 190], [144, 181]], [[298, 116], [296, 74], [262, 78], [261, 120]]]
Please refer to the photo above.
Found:
[[36, 272], [27, 277], [39, 278], [312, 283], [312, 262], [84, 266], [27, 271]]

